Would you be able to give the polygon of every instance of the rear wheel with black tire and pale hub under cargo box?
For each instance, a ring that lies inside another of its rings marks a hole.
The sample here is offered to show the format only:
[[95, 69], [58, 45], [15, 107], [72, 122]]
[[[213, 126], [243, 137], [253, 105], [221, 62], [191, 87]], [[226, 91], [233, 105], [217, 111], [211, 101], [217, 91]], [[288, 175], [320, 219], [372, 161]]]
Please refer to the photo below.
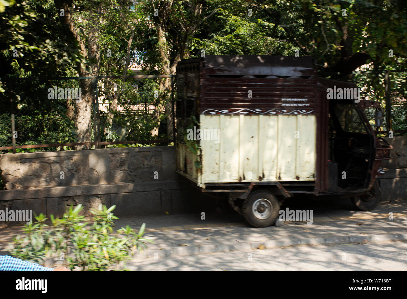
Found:
[[274, 225], [279, 211], [280, 203], [277, 197], [267, 190], [256, 190], [250, 193], [242, 207], [242, 214], [247, 223], [254, 227]]

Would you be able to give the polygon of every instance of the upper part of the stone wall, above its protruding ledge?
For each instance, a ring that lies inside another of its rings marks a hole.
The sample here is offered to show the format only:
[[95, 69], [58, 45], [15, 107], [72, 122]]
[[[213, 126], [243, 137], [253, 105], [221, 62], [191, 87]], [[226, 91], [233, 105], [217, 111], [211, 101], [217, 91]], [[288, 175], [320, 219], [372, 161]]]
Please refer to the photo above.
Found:
[[165, 181], [174, 179], [175, 147], [3, 154], [0, 169], [7, 190]]

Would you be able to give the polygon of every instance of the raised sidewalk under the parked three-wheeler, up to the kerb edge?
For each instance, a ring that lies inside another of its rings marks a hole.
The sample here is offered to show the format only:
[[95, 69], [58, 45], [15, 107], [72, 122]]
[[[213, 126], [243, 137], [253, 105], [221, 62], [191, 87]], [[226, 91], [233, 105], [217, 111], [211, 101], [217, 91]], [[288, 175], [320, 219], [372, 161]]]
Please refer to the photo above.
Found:
[[[236, 213], [218, 215], [160, 214], [120, 217], [116, 228], [146, 223], [144, 235], [154, 243], [134, 258], [162, 258], [258, 248], [296, 247], [304, 244], [352, 244], [407, 240], [406, 202], [382, 202], [372, 212], [355, 211], [347, 199], [337, 201], [297, 200], [281, 209], [313, 210], [313, 223], [285, 222], [284, 226], [253, 228]], [[390, 219], [392, 216], [393, 219]], [[22, 231], [18, 227], [0, 229], [0, 254], [7, 242]]]

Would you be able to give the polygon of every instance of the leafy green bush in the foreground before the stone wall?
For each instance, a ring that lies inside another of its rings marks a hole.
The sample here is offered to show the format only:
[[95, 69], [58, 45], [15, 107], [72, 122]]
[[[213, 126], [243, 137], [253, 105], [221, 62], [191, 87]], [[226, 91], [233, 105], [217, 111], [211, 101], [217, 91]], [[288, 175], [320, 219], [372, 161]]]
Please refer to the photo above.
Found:
[[114, 208], [99, 205], [98, 210], [91, 211], [94, 216], [88, 225], [85, 217], [79, 215], [82, 205], [71, 206], [61, 219], [50, 216], [50, 229], [45, 224], [48, 218], [35, 215], [36, 224], [24, 225], [26, 236], [13, 238], [11, 255], [39, 264], [45, 258], [59, 257], [64, 266], [77, 266], [83, 271], [123, 269], [131, 255], [146, 249], [146, 242], [152, 241], [142, 238], [145, 223], [138, 232], [127, 225], [117, 231], [119, 236], [112, 234], [113, 219], [118, 219], [112, 214]]

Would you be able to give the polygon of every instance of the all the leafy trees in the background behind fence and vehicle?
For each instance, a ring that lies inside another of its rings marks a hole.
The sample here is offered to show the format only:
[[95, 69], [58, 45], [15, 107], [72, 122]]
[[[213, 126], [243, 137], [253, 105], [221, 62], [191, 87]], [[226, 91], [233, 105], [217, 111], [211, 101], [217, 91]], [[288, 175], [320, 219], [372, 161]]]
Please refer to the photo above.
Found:
[[[383, 102], [385, 73], [377, 71], [406, 69], [406, 5], [404, 0], [0, 0], [0, 78], [123, 75], [131, 74], [132, 65], [146, 74], [175, 74], [179, 60], [198, 57], [202, 50], [206, 55], [299, 55], [315, 59], [319, 76], [353, 80], [365, 96]], [[355, 70], [376, 73], [352, 74]], [[391, 73], [395, 129], [406, 127], [406, 74]], [[52, 84], [81, 87], [83, 100], [48, 99], [44, 95]], [[131, 119], [126, 134], [153, 137], [161, 121], [172, 135], [170, 79], [98, 84], [109, 102], [106, 128], [129, 123], [116, 113], [120, 99], [158, 89], [160, 96], [149, 100], [154, 113]], [[92, 80], [20, 81], [14, 87], [0, 80], [3, 144], [11, 133], [10, 88], [33, 127], [41, 127], [38, 115], [48, 119], [42, 123], [47, 134], [34, 130], [24, 142], [92, 139]], [[102, 132], [105, 140], [108, 131]]]

